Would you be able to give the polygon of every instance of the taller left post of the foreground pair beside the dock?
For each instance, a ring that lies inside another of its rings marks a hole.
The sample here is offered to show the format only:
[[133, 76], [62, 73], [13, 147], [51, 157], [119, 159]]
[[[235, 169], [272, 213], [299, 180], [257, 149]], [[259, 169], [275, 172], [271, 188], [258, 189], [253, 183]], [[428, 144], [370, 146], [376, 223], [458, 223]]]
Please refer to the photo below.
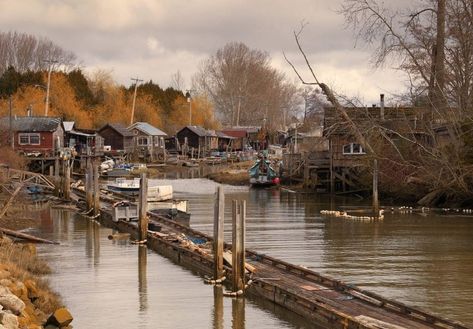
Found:
[[217, 186], [214, 208], [214, 279], [223, 277], [223, 225], [225, 216], [223, 187]]

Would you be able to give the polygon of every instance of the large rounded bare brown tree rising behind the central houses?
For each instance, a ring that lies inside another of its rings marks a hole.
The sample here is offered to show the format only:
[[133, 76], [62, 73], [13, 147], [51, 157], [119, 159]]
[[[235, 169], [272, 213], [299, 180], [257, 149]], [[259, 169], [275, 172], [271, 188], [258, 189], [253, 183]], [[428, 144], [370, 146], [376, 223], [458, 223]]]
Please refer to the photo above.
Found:
[[202, 63], [194, 85], [227, 125], [282, 125], [296, 87], [271, 67], [266, 52], [229, 43]]

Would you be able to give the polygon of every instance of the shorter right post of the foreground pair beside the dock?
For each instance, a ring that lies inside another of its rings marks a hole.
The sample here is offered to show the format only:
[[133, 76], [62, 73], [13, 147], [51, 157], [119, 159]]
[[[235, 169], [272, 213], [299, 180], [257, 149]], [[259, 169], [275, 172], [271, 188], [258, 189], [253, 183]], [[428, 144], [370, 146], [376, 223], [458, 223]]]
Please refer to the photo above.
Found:
[[245, 212], [246, 201], [233, 200], [232, 212], [232, 283], [233, 290], [245, 288]]

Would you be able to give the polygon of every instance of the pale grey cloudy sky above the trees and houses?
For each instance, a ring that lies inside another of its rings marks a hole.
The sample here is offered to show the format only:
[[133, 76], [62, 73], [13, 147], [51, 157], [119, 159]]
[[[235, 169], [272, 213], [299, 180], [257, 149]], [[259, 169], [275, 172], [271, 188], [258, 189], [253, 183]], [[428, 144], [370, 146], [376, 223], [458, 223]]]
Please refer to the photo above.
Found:
[[340, 2], [0, 0], [0, 26], [47, 37], [74, 52], [87, 71], [112, 71], [124, 85], [139, 77], [166, 87], [178, 70], [188, 86], [199, 63], [231, 41], [269, 52], [273, 65], [296, 79], [285, 52], [308, 77], [292, 34], [306, 22], [302, 44], [319, 80], [367, 104], [401, 91], [402, 76], [370, 66], [370, 49], [356, 45], [336, 13]]

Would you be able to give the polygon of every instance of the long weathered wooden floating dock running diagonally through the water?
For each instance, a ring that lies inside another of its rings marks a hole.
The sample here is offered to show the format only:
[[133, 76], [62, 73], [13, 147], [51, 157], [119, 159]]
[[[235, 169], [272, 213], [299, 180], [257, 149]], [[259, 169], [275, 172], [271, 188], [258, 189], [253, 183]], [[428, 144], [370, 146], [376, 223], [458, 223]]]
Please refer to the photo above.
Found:
[[[83, 191], [75, 192], [81, 198], [85, 197]], [[136, 239], [136, 222], [112, 220], [111, 207], [114, 201], [116, 200], [111, 197], [101, 199], [99, 220], [106, 226], [130, 233]], [[148, 230], [149, 248], [201, 275], [213, 276], [212, 237], [153, 213], [148, 215], [151, 222], [161, 227], [160, 232]], [[224, 248], [230, 250], [231, 246], [224, 244]], [[459, 322], [429, 314], [252, 250], [246, 250], [245, 260], [251, 267], [251, 271], [246, 274], [247, 281], [251, 284], [245, 293], [291, 310], [313, 321], [316, 327], [467, 329]], [[232, 271], [231, 266], [225, 265], [225, 271], [228, 277]]]

